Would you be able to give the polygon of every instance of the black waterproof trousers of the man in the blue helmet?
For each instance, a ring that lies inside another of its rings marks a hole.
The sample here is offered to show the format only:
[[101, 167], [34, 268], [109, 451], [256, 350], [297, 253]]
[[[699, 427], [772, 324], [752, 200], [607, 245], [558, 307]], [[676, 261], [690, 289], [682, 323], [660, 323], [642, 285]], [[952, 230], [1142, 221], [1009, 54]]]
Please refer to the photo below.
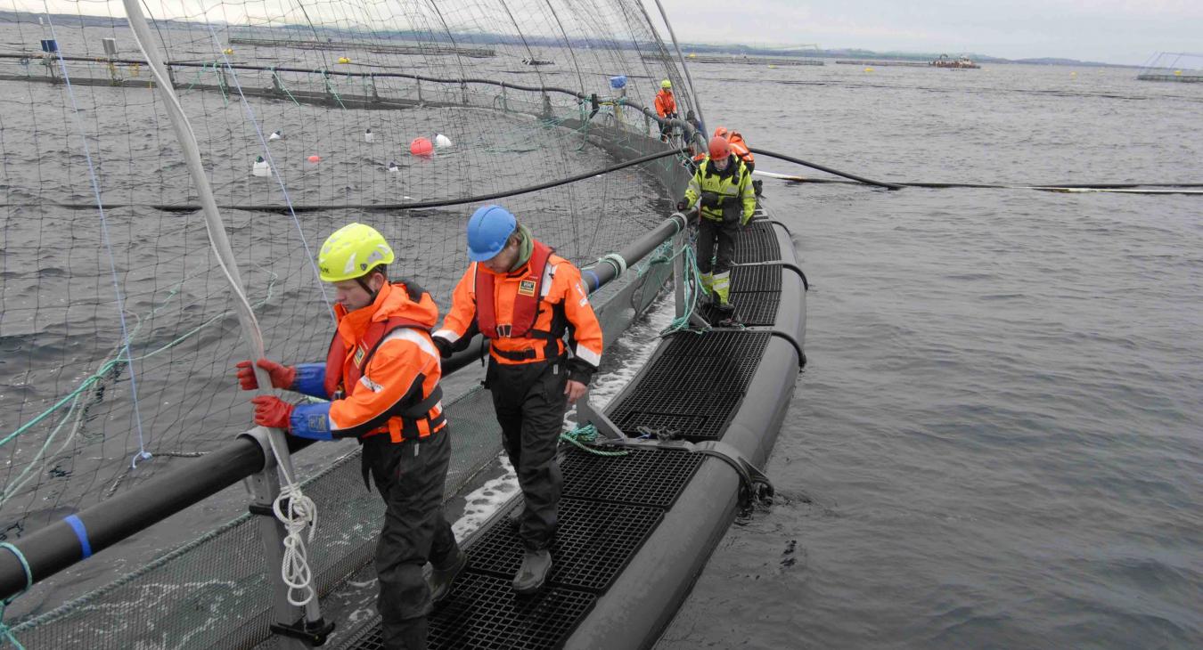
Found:
[[568, 409], [564, 358], [517, 365], [490, 359], [486, 383], [502, 425], [502, 446], [526, 500], [518, 537], [527, 550], [545, 549], [556, 535], [556, 505], [564, 483], [556, 461]]

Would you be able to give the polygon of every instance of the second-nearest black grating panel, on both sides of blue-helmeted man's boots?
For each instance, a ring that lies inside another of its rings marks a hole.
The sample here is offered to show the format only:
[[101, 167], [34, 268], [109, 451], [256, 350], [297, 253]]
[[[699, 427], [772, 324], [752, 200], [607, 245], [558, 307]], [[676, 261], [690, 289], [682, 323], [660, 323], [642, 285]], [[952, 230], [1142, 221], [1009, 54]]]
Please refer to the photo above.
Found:
[[[559, 500], [559, 523], [551, 548], [549, 584], [605, 591], [664, 518], [662, 508]], [[505, 521], [492, 526], [466, 547], [468, 567], [514, 579], [522, 563], [522, 542]]]

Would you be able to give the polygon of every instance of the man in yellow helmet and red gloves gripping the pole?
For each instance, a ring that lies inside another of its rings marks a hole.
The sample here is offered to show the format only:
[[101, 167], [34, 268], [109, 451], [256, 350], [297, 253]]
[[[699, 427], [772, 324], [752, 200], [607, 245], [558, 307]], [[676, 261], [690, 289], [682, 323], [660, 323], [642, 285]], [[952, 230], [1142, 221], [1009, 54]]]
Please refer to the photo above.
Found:
[[[350, 223], [326, 239], [319, 275], [334, 285], [338, 320], [326, 362], [257, 365], [272, 387], [330, 401], [292, 405], [259, 395], [251, 402], [255, 424], [363, 445], [363, 479], [371, 473], [385, 501], [375, 554], [385, 648], [425, 650], [426, 616], [451, 592], [468, 556], [443, 515], [451, 441], [431, 339], [438, 308], [414, 282], [389, 281], [392, 261], [392, 249], [371, 226]], [[237, 369], [244, 389], [257, 388], [250, 362]], [[434, 567], [429, 582], [422, 577], [427, 560]]]

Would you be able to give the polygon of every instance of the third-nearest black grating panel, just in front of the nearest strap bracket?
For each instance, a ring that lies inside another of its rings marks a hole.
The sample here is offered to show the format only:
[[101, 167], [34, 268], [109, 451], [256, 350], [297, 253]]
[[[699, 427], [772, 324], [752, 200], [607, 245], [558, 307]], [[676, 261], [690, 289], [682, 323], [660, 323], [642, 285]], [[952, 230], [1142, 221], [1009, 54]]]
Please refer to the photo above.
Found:
[[662, 449], [632, 449], [599, 458], [569, 447], [559, 464], [564, 496], [669, 508], [704, 457]]

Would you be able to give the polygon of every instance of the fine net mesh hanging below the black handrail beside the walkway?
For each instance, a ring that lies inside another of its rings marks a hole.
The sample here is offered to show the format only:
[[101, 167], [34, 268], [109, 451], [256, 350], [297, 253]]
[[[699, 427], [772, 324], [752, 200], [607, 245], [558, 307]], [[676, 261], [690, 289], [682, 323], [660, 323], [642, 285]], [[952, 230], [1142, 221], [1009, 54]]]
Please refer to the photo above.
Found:
[[[599, 317], [608, 329], [629, 324], [671, 273], [646, 261], [633, 278], [603, 290]], [[468, 390], [448, 405], [454, 423], [445, 494], [461, 490], [500, 451], [500, 428], [488, 392]], [[372, 561], [384, 503], [365, 489], [356, 449], [304, 485], [321, 513], [310, 566], [320, 597], [330, 596]], [[28, 648], [251, 648], [269, 638], [273, 584], [254, 515], [239, 517], [84, 597], [18, 625]], [[328, 612], [328, 610], [327, 610]], [[336, 621], [344, 633], [354, 620]]]

